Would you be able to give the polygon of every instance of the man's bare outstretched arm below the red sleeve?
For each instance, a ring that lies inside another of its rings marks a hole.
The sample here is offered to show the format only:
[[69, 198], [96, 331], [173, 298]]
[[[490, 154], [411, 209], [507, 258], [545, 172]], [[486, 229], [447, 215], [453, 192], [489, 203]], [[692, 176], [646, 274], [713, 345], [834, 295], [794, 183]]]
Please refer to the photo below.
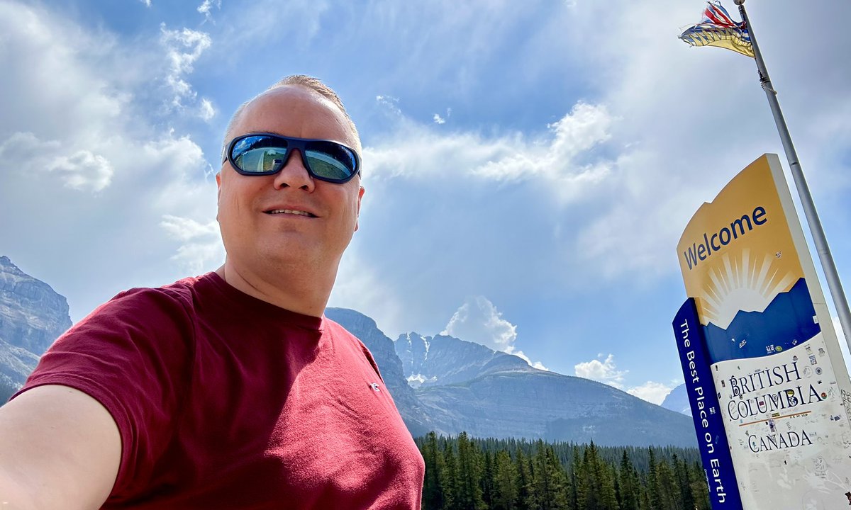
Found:
[[39, 386], [0, 407], [0, 510], [96, 510], [120, 462], [115, 420], [77, 389]]

